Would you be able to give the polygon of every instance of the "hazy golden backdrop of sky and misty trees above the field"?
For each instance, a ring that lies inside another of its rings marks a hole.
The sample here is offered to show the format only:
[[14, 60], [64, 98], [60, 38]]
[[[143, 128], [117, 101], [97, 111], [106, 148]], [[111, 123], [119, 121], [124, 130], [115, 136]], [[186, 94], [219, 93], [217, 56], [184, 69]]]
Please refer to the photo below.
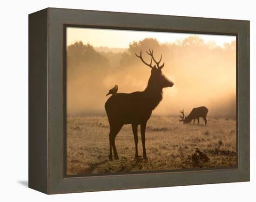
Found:
[[75, 27], [67, 27], [67, 112], [104, 115], [115, 84], [120, 93], [144, 90], [150, 68], [135, 53], [150, 61], [148, 48], [162, 54], [162, 73], [174, 82], [153, 114], [206, 106], [210, 116], [235, 116], [236, 36]]

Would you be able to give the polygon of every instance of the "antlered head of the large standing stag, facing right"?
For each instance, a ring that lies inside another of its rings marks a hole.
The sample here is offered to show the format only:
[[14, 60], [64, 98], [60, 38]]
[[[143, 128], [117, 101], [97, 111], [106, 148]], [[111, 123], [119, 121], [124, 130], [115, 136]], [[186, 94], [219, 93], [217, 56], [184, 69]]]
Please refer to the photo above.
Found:
[[[160, 62], [162, 60], [162, 54], [161, 54], [160, 60], [156, 61], [153, 56], [153, 50], [149, 49], [149, 52], [146, 51], [146, 53], [151, 56], [150, 64], [148, 64], [147, 62], [145, 62], [143, 60], [141, 53], [140, 53], [140, 55], [137, 55], [135, 53], [135, 55], [138, 58], [140, 58], [141, 61], [145, 65], [147, 65], [148, 67], [151, 68], [151, 76], [149, 78], [148, 85], [150, 85], [154, 88], [159, 88], [161, 90], [162, 90], [162, 88], [172, 87], [174, 85], [174, 83], [172, 81], [168, 80], [168, 78], [166, 78], [164, 74], [162, 74], [162, 68], [164, 67], [164, 63], [162, 65], [160, 65]], [[152, 61], [155, 62], [154, 66], [152, 66]]]

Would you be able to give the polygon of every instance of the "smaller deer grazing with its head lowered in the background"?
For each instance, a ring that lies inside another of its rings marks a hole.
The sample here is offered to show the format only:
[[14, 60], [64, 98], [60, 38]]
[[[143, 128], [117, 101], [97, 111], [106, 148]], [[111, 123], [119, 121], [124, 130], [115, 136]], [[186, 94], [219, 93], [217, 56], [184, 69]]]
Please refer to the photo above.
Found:
[[180, 113], [182, 113], [182, 116], [180, 116], [181, 120], [179, 120], [179, 121], [183, 121], [183, 123], [190, 123], [192, 121], [192, 119], [194, 119], [194, 125], [195, 125], [195, 119], [197, 119], [198, 124], [199, 124], [199, 117], [203, 118], [204, 125], [206, 125], [206, 123], [207, 123], [206, 116], [208, 113], [208, 108], [206, 108], [206, 107], [193, 108], [187, 117], [185, 117], [185, 115], [184, 115], [184, 109], [182, 111], [180, 111]]

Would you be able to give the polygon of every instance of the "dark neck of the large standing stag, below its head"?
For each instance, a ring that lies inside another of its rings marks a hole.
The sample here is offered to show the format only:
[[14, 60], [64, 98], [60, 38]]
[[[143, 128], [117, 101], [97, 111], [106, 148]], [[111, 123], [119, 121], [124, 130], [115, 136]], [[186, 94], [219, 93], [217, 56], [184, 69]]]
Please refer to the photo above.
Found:
[[162, 88], [155, 85], [155, 83], [150, 82], [150, 79], [144, 93], [150, 110], [155, 109], [160, 101], [162, 101]]

